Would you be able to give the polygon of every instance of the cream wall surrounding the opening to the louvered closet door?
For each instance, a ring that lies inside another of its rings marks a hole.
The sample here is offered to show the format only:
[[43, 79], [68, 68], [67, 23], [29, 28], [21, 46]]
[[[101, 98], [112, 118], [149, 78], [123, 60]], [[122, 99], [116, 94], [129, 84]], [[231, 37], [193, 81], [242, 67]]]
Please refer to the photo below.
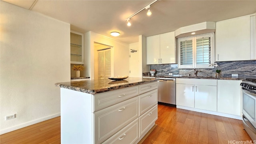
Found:
[[94, 79], [94, 42], [111, 46], [111, 76], [129, 76], [129, 44], [102, 36], [95, 32], [87, 32], [85, 37], [85, 76]]

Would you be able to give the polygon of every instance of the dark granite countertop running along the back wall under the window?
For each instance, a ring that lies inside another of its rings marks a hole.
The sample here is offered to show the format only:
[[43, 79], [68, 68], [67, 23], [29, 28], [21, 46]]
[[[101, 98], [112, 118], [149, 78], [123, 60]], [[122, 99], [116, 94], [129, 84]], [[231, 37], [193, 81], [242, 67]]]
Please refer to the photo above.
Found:
[[236, 78], [236, 77], [210, 77], [210, 76], [143, 76], [143, 77], [156, 77], [156, 78], [197, 78], [197, 79], [212, 79], [212, 80], [244, 80], [245, 78]]

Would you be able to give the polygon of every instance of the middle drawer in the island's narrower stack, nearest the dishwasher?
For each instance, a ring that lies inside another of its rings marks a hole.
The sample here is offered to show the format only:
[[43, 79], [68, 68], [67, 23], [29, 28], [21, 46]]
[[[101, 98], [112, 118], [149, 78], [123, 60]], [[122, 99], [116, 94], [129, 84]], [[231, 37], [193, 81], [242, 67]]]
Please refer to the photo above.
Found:
[[157, 89], [139, 95], [139, 116], [157, 104]]

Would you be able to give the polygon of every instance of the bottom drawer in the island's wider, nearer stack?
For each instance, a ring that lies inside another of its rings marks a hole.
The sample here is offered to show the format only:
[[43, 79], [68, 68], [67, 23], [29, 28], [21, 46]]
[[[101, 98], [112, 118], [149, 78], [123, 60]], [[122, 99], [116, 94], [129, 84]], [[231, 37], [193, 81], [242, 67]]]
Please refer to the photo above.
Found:
[[139, 122], [137, 118], [102, 144], [133, 144], [138, 138]]

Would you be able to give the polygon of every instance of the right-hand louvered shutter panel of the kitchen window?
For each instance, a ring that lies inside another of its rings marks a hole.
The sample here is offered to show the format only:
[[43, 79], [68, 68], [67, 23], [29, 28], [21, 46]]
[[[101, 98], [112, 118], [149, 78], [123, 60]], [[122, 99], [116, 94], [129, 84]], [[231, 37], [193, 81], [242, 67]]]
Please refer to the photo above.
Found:
[[196, 36], [195, 67], [208, 67], [213, 58], [213, 34]]

